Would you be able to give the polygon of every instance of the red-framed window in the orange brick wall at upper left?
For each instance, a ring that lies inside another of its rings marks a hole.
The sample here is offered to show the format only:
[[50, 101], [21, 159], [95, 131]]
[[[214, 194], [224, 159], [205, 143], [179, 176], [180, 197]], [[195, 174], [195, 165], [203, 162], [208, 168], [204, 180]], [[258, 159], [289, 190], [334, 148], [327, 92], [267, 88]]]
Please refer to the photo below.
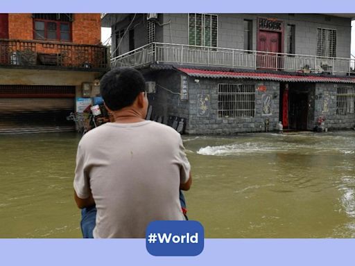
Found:
[[71, 14], [33, 14], [34, 39], [71, 41]]

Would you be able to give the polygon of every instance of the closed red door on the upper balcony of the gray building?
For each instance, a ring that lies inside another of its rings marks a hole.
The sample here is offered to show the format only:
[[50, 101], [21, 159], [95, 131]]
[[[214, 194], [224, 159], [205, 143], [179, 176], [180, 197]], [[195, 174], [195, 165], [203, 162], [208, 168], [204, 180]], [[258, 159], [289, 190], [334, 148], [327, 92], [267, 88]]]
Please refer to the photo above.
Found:
[[258, 51], [266, 53], [258, 53], [257, 67], [259, 69], [280, 69], [278, 56], [275, 53], [281, 52], [281, 33], [272, 31], [259, 31]]

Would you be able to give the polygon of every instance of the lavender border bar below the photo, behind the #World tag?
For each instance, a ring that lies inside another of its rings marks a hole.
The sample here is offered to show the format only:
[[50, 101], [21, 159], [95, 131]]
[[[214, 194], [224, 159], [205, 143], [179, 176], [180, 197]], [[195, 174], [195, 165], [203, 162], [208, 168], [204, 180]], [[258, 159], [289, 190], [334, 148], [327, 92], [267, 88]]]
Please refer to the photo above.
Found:
[[355, 239], [205, 239], [196, 257], [155, 257], [145, 239], [2, 239], [0, 265], [353, 265]]

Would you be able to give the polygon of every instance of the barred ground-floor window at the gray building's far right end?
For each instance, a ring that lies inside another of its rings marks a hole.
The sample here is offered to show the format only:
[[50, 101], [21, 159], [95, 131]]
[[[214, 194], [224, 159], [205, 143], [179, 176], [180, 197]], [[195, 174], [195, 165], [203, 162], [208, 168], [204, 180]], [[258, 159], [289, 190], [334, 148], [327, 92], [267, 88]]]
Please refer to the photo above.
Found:
[[336, 114], [354, 114], [355, 87], [338, 87], [336, 94]]

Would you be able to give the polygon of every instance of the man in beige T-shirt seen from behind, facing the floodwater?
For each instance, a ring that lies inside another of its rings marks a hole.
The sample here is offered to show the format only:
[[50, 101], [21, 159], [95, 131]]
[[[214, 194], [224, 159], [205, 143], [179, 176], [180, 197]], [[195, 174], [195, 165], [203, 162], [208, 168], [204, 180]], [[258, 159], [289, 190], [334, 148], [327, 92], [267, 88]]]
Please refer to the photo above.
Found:
[[184, 220], [179, 189], [191, 186], [190, 164], [178, 132], [144, 120], [148, 98], [139, 71], [112, 69], [100, 89], [115, 122], [80, 140], [76, 204], [96, 204], [94, 238], [145, 238], [149, 222]]

